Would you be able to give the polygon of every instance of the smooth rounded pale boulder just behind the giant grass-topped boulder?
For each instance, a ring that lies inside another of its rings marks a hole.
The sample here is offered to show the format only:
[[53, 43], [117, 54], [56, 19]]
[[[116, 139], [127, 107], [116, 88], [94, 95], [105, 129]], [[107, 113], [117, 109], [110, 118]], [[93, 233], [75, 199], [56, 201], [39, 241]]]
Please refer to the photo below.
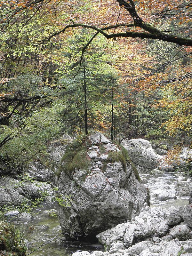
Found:
[[139, 172], [147, 173], [157, 167], [158, 156], [148, 140], [124, 140], [122, 144]]

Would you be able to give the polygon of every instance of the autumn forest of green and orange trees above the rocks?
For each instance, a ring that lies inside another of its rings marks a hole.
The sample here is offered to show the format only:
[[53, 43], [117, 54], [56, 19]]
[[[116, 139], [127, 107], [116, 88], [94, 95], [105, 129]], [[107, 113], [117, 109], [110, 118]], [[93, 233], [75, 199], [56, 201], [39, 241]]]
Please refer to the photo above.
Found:
[[[0, 2], [0, 157], [12, 168], [61, 134], [190, 146], [192, 3]], [[150, 25], [149, 25], [150, 24]]]

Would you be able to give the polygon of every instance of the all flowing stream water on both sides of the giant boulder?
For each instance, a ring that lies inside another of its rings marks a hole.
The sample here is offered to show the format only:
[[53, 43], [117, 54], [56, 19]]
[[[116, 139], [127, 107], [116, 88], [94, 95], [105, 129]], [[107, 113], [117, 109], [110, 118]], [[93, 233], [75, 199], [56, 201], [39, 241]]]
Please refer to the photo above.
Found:
[[[175, 196], [175, 182], [176, 176], [175, 173], [162, 173], [156, 175], [140, 175], [141, 178], [147, 178], [148, 183], [145, 184], [148, 187], [151, 197], [151, 207], [161, 206], [162, 208], [169, 208], [172, 205], [181, 206], [188, 204], [188, 196], [182, 196], [177, 199], [169, 199], [167, 201], [159, 201], [153, 197], [153, 194], [158, 194], [159, 196]], [[186, 176], [187, 177], [187, 176]], [[187, 177], [190, 180], [190, 177]], [[168, 186], [169, 188], [164, 188]], [[25, 239], [29, 241], [28, 244], [28, 253], [27, 255], [32, 256], [69, 256], [73, 252], [78, 251], [103, 251], [103, 247], [100, 244], [69, 244], [68, 242], [63, 241], [60, 244], [60, 239], [55, 238], [51, 243], [44, 245], [39, 248], [37, 251], [33, 252], [34, 249], [41, 246], [42, 244], [47, 243], [55, 236], [61, 233], [59, 220], [57, 217], [50, 217], [48, 214], [43, 213], [44, 210], [56, 209], [55, 203], [43, 203], [39, 209], [36, 210], [36, 213], [33, 213], [34, 218], [25, 222], [19, 221], [19, 227], [23, 233]], [[59, 235], [61, 236], [61, 235]], [[56, 241], [56, 242], [54, 242]]]

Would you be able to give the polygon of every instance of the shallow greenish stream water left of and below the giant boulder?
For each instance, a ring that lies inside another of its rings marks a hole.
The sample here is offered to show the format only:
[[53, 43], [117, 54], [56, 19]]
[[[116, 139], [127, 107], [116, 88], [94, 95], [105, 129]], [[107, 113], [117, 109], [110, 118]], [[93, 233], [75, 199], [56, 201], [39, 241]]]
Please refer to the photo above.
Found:
[[[63, 241], [60, 243], [62, 237], [62, 231], [60, 228], [58, 217], [50, 217], [48, 214], [44, 214], [45, 210], [56, 209], [56, 204], [41, 204], [41, 207], [32, 213], [34, 217], [31, 220], [21, 220], [18, 223], [23, 237], [28, 240], [28, 252], [27, 255], [32, 256], [70, 256], [73, 252], [88, 251], [93, 252], [95, 250], [104, 251], [103, 246], [100, 244], [90, 243], [70, 243]], [[54, 238], [54, 239], [53, 239]], [[53, 241], [51, 241], [53, 239]], [[59, 243], [58, 243], [59, 240]], [[50, 243], [46, 244], [48, 241]], [[42, 244], [46, 244], [33, 252]]]

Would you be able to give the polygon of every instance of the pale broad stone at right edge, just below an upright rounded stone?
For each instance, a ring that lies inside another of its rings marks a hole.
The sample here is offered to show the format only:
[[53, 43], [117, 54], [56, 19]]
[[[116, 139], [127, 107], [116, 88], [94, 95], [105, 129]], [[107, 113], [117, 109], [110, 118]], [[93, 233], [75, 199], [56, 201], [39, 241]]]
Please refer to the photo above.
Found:
[[185, 241], [191, 238], [191, 230], [187, 225], [178, 225], [172, 228], [169, 233], [172, 237]]

